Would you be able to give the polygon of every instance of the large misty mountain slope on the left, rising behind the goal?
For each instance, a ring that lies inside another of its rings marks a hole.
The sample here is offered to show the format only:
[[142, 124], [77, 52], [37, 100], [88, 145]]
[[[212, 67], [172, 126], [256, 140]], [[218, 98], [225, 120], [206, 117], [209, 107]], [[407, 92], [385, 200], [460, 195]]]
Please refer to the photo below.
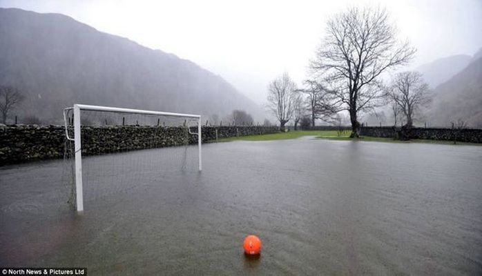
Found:
[[61, 14], [0, 8], [0, 83], [25, 97], [20, 117], [59, 123], [73, 103], [171, 112], [264, 112], [221, 77]]

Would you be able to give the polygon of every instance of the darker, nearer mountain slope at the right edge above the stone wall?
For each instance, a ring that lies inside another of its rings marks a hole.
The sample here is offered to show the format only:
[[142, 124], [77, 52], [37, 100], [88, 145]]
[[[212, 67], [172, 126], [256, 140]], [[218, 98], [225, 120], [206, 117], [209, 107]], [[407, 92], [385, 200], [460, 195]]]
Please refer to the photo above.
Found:
[[436, 88], [428, 117], [432, 126], [450, 126], [462, 119], [482, 127], [482, 58]]

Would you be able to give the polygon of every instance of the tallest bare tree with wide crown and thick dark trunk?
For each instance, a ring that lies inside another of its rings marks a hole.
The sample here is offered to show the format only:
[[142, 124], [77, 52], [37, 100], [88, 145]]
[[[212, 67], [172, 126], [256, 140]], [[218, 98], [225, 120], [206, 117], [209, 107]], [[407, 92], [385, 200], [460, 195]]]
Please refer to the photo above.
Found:
[[350, 8], [327, 23], [326, 37], [311, 61], [314, 77], [327, 83], [332, 110], [349, 112], [350, 137], [358, 137], [358, 112], [380, 104], [380, 75], [404, 65], [414, 55], [408, 42], [396, 38], [386, 10]]

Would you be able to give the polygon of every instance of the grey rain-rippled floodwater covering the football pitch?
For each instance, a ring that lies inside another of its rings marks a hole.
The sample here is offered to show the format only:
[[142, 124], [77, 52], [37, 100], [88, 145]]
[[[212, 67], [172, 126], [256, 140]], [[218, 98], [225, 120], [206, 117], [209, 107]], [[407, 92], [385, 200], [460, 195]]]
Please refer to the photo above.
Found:
[[[480, 146], [233, 141], [205, 144], [200, 173], [192, 160], [176, 164], [185, 152], [175, 150], [86, 158], [82, 216], [59, 183], [64, 161], [0, 168], [0, 266], [87, 267], [89, 275], [482, 274]], [[242, 253], [249, 234], [263, 242], [259, 259]]]

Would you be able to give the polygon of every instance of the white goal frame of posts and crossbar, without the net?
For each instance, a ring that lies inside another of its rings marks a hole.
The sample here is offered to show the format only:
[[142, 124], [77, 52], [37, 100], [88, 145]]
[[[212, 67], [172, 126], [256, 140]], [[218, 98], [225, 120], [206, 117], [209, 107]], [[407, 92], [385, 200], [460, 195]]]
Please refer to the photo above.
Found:
[[[68, 110], [73, 110], [74, 115], [74, 137], [71, 138], [68, 135], [68, 121], [66, 113]], [[82, 186], [82, 152], [81, 152], [81, 128], [80, 128], [80, 112], [81, 110], [93, 110], [93, 111], [106, 111], [106, 112], [119, 112], [119, 113], [135, 113], [135, 114], [145, 114], [145, 115], [161, 115], [166, 117], [182, 117], [182, 118], [193, 118], [197, 119], [197, 132], [191, 132], [189, 126], [187, 126], [189, 133], [191, 135], [197, 135], [197, 147], [198, 147], [198, 164], [199, 170], [202, 170], [202, 130], [201, 130], [201, 115], [183, 114], [183, 113], [172, 113], [172, 112], [161, 112], [161, 111], [151, 111], [151, 110], [138, 110], [130, 108], [113, 108], [108, 106], [89, 106], [85, 104], [74, 104], [71, 108], [64, 109], [64, 124], [66, 130], [66, 138], [68, 140], [74, 141], [75, 150], [75, 193], [76, 193], [76, 203], [77, 203], [77, 213], [84, 213], [84, 193]]]

